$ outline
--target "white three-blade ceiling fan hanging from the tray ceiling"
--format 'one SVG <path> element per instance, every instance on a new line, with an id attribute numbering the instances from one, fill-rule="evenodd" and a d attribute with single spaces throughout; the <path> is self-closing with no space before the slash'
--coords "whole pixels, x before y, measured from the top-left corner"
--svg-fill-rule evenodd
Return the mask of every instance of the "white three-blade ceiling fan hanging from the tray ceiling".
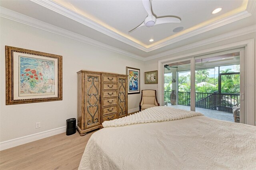
<path id="1" fill-rule="evenodd" d="M 130 30 L 128 34 L 137 28 L 140 28 L 141 26 L 146 26 L 146 27 L 152 27 L 157 24 L 165 24 L 165 23 L 180 23 L 180 19 L 176 17 L 162 17 L 162 18 L 156 18 L 151 11 L 151 0 L 142 0 L 143 6 L 148 12 L 148 16 L 145 18 L 144 22 L 134 28 L 133 30 Z"/>

